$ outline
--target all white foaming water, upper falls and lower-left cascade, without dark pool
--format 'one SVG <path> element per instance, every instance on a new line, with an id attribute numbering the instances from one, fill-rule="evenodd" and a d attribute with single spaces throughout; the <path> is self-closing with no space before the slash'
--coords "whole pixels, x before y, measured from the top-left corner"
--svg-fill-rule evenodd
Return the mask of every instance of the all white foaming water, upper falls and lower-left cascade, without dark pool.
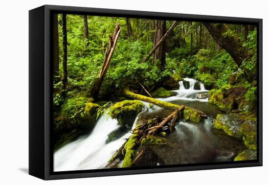
<path id="1" fill-rule="evenodd" d="M 200 83 L 201 90 L 194 90 L 194 84 L 197 81 L 191 78 L 184 78 L 184 80 L 190 82 L 189 89 L 185 89 L 183 82 L 180 81 L 179 90 L 174 91 L 177 95 L 158 99 L 166 102 L 173 100 L 208 101 L 208 99 L 196 98 L 197 93 L 207 92 L 202 83 Z M 158 106 L 150 108 L 149 103 L 143 103 L 145 105 L 143 111 L 148 111 L 149 113 L 162 109 Z M 133 128 L 137 119 L 138 116 L 134 121 Z M 189 127 L 194 133 L 199 133 L 196 127 L 189 125 L 188 123 L 179 123 L 179 125 L 182 124 L 184 124 L 183 126 L 185 127 Z M 105 167 L 116 150 L 125 142 L 125 139 L 131 136 L 131 133 L 127 132 L 121 138 L 106 144 L 108 135 L 119 127 L 120 125 L 118 125 L 118 121 L 112 119 L 108 113 L 102 115 L 96 122 L 93 131 L 87 137 L 73 141 L 54 153 L 54 171 L 98 169 Z"/>

